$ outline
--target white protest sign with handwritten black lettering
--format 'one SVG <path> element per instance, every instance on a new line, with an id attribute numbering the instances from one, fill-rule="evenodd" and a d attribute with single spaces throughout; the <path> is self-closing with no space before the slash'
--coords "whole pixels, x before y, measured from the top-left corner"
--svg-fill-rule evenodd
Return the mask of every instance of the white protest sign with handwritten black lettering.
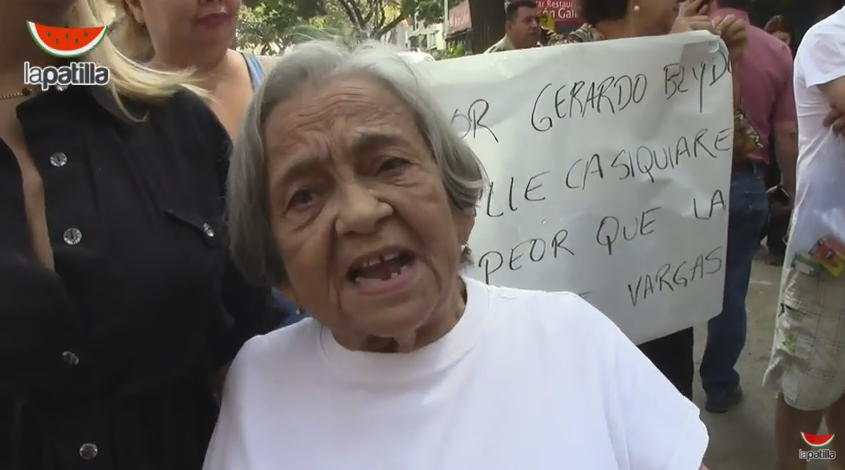
<path id="1" fill-rule="evenodd" d="M 715 36 L 415 67 L 490 178 L 471 277 L 579 293 L 637 343 L 719 313 L 733 113 Z"/>

